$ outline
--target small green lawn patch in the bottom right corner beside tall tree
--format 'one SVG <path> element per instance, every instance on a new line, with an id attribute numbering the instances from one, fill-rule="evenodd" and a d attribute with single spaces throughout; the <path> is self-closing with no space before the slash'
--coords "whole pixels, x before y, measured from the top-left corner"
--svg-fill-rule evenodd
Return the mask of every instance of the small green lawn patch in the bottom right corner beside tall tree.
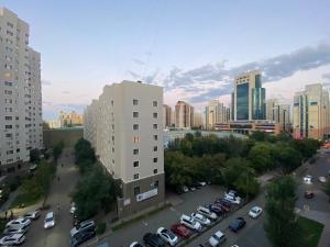
<path id="1" fill-rule="evenodd" d="M 324 225 L 301 216 L 298 224 L 304 233 L 304 247 L 317 247 Z"/>

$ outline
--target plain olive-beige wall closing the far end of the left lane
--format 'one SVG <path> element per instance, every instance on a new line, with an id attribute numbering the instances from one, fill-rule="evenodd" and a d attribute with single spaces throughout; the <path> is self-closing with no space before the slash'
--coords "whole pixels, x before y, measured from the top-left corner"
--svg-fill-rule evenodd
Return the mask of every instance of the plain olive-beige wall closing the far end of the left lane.
<path id="1" fill-rule="evenodd" d="M 64 142 L 65 147 L 74 147 L 77 141 L 82 137 L 82 127 L 44 130 L 44 145 L 46 148 L 53 147 L 61 141 Z"/>

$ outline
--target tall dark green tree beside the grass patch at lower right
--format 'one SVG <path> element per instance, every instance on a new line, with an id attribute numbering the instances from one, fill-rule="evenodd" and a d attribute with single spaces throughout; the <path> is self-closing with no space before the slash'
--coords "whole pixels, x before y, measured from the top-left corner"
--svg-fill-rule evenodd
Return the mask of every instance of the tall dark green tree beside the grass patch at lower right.
<path id="1" fill-rule="evenodd" d="M 264 225 L 274 247 L 298 247 L 301 231 L 295 214 L 296 184 L 292 177 L 284 176 L 267 187 L 266 222 Z"/>

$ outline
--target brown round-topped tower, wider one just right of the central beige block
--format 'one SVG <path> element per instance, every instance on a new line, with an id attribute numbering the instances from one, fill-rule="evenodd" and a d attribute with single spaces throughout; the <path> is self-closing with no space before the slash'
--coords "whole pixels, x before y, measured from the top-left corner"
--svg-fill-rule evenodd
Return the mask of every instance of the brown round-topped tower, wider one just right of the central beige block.
<path id="1" fill-rule="evenodd" d="M 178 101 L 175 105 L 175 126 L 178 128 L 194 126 L 194 108 L 185 101 Z"/>

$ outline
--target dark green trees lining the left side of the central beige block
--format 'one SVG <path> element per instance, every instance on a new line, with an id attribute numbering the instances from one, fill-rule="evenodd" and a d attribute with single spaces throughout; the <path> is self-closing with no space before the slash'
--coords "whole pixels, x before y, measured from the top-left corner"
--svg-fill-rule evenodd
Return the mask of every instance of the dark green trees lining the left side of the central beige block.
<path id="1" fill-rule="evenodd" d="M 80 138 L 76 143 L 75 158 L 81 172 L 73 194 L 78 218 L 92 217 L 100 210 L 109 212 L 119 194 L 116 180 L 98 166 L 95 151 L 88 141 Z"/>

